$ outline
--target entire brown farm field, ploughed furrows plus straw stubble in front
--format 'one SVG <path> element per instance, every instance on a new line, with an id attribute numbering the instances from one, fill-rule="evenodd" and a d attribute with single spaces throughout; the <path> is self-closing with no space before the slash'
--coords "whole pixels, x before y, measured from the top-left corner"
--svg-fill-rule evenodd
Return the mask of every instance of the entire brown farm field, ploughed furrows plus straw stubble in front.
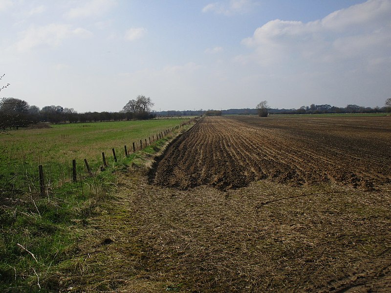
<path id="1" fill-rule="evenodd" d="M 389 292 L 390 145 L 390 117 L 203 118 L 152 168 L 119 176 L 75 271 L 56 280 L 76 292 Z"/>

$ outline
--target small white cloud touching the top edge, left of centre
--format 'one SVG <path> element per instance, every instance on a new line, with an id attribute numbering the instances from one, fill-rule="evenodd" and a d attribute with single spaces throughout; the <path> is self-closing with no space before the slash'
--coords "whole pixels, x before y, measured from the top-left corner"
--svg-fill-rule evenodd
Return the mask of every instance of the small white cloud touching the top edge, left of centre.
<path id="1" fill-rule="evenodd" d="M 83 2 L 84 4 L 69 10 L 65 16 L 69 18 L 99 16 L 117 5 L 116 0 L 89 0 Z"/>

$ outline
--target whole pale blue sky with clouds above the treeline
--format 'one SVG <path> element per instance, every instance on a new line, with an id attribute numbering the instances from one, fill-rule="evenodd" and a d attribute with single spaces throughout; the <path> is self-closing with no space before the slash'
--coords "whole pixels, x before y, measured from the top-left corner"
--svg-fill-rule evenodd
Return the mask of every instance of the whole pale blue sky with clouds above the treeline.
<path id="1" fill-rule="evenodd" d="M 1 97 L 40 108 L 384 106 L 391 0 L 0 0 Z"/>

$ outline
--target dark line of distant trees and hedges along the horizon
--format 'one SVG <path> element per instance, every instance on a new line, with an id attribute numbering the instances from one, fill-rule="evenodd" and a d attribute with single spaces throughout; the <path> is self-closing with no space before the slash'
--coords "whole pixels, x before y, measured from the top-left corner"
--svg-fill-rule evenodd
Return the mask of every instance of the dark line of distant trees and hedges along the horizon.
<path id="1" fill-rule="evenodd" d="M 130 101 L 131 102 L 131 101 Z M 309 105 L 299 109 L 273 109 L 269 108 L 270 114 L 323 114 L 323 113 L 378 113 L 390 112 L 391 107 L 363 107 L 359 105 L 347 105 L 346 107 L 336 107 L 331 105 Z M 53 124 L 62 123 L 84 123 L 84 122 L 104 122 L 123 120 L 153 119 L 155 117 L 177 117 L 177 116 L 220 116 L 220 115 L 257 115 L 258 109 L 228 109 L 228 110 L 186 110 L 186 111 L 136 111 L 127 112 L 86 112 L 77 113 L 73 108 L 63 108 L 62 106 L 45 106 L 42 109 L 37 106 L 30 106 L 27 102 L 6 98 L 0 100 L 0 128 L 26 127 L 41 122 Z"/>

